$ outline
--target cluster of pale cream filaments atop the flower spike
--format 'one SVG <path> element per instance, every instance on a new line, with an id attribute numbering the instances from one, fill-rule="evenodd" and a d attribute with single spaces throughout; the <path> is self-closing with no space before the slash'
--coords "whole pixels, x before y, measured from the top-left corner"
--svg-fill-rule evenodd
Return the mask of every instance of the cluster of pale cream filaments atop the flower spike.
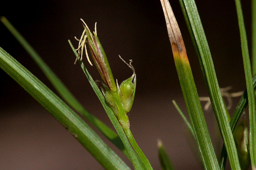
<path id="1" fill-rule="evenodd" d="M 76 61 L 77 61 L 77 59 L 78 59 L 78 57 L 79 57 L 80 55 L 81 55 L 80 60 L 83 59 L 83 50 L 85 49 L 86 58 L 87 58 L 88 62 L 90 63 L 90 65 L 92 65 L 92 62 L 91 62 L 90 59 L 89 59 L 89 55 L 88 55 L 88 52 L 87 52 L 87 49 L 86 49 L 86 44 L 85 44 L 85 43 L 87 42 L 87 40 L 86 40 L 86 39 L 87 39 L 86 29 L 87 29 L 89 32 L 90 32 L 90 30 L 89 30 L 88 26 L 85 24 L 84 20 L 83 20 L 82 18 L 81 18 L 80 20 L 84 23 L 84 31 L 83 31 L 83 33 L 82 33 L 82 36 L 81 36 L 80 40 L 78 40 L 78 39 L 75 37 L 75 39 L 79 41 L 79 43 L 78 43 L 78 48 L 76 49 L 76 51 L 78 51 L 78 56 L 76 57 Z M 97 22 L 95 22 L 94 33 L 97 35 L 96 24 L 97 24 Z M 74 64 L 76 64 L 76 61 L 75 61 Z"/>

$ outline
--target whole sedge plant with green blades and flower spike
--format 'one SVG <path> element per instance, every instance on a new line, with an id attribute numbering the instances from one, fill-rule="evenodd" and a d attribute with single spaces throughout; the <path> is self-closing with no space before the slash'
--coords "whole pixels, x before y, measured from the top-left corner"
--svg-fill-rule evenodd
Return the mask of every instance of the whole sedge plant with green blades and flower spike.
<path id="1" fill-rule="evenodd" d="M 196 89 L 194 77 L 189 63 L 189 56 L 186 53 L 186 47 L 182 39 L 178 23 L 168 0 L 160 0 L 162 4 L 164 17 L 167 26 L 166 36 L 170 39 L 172 47 L 172 56 L 178 73 L 180 87 L 186 104 L 189 120 L 173 100 L 173 104 L 181 115 L 190 130 L 194 140 L 196 141 L 200 154 L 202 166 L 205 169 L 225 169 L 227 158 L 231 169 L 255 169 L 256 164 L 256 102 L 255 88 L 256 76 L 252 76 L 256 70 L 256 40 L 252 39 L 252 65 L 248 53 L 248 45 L 246 39 L 245 26 L 242 15 L 242 7 L 240 0 L 235 0 L 238 26 L 240 30 L 242 59 L 244 63 L 244 72 L 246 78 L 246 89 L 242 94 L 237 107 L 229 119 L 229 113 L 223 100 L 216 77 L 214 63 L 208 42 L 204 34 L 204 29 L 200 21 L 196 3 L 194 0 L 179 0 L 188 31 L 192 38 L 194 48 L 198 56 L 198 61 L 204 75 L 204 81 L 208 89 L 209 101 L 211 102 L 219 131 L 223 139 L 221 155 L 217 155 L 212 139 L 209 134 L 209 129 L 204 117 L 204 111 L 200 103 L 200 97 Z M 256 1 L 252 0 L 252 35 L 256 33 Z M 82 20 L 82 19 L 81 19 Z M 66 86 L 46 65 L 42 58 L 36 53 L 32 46 L 25 40 L 24 37 L 8 22 L 4 17 L 1 17 L 1 22 L 10 30 L 14 37 L 31 55 L 36 64 L 44 72 L 52 85 L 56 88 L 60 99 L 46 85 L 38 80 L 30 71 L 10 56 L 4 49 L 0 47 L 0 67 L 10 77 L 12 77 L 21 87 L 23 87 L 32 97 L 34 97 L 45 109 L 49 111 L 70 133 L 96 158 L 96 160 L 106 169 L 130 169 L 126 163 L 85 123 L 85 121 L 77 114 L 80 113 L 93 127 L 106 136 L 122 153 L 132 162 L 133 168 L 136 170 L 152 169 L 148 158 L 138 146 L 130 126 L 128 114 L 132 109 L 136 92 L 136 73 L 132 66 L 132 60 L 124 61 L 124 66 L 127 65 L 132 70 L 132 75 L 122 81 L 120 85 L 114 79 L 110 64 L 104 52 L 104 49 L 97 36 L 96 24 L 94 32 L 91 32 L 84 20 L 82 35 L 78 40 L 77 49 L 74 48 L 71 41 L 68 40 L 72 51 L 74 52 L 74 63 L 79 63 L 82 71 L 87 77 L 92 89 L 96 93 L 100 103 L 104 107 L 115 131 L 102 123 L 100 119 L 94 117 L 86 111 L 79 101 L 70 93 Z M 255 36 L 254 36 L 255 38 Z M 87 48 L 88 47 L 88 48 Z M 90 56 L 88 54 L 90 51 Z M 90 65 L 96 66 L 101 81 L 97 85 L 92 78 L 82 58 L 85 55 Z M 93 59 L 93 63 L 90 58 Z M 249 128 L 246 124 L 245 116 L 242 116 L 248 105 Z M 77 112 L 77 113 L 76 113 Z M 242 121 L 239 119 L 242 117 Z M 162 169 L 172 170 L 175 167 L 164 149 L 161 140 L 158 140 L 158 156 Z M 172 156 L 170 156 L 172 157 Z"/>

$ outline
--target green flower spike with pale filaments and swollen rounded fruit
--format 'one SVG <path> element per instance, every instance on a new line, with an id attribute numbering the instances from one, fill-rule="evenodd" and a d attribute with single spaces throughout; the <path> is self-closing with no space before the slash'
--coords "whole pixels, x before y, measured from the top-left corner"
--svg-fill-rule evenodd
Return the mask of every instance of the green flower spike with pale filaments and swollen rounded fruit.
<path id="1" fill-rule="evenodd" d="M 79 44 L 78 49 L 76 50 L 78 50 L 78 54 L 81 55 L 80 59 L 82 60 L 83 49 L 85 49 L 87 60 L 90 65 L 92 65 L 86 49 L 86 43 L 88 44 L 94 64 L 96 65 L 100 76 L 104 81 L 104 83 L 102 82 L 104 89 L 101 89 L 106 103 L 108 103 L 112 109 L 122 128 L 127 130 L 130 127 L 130 123 L 126 113 L 128 113 L 132 108 L 136 88 L 136 74 L 134 67 L 131 65 L 132 61 L 130 60 L 130 64 L 128 64 L 119 56 L 122 61 L 124 61 L 124 63 L 126 63 L 133 71 L 132 76 L 123 81 L 119 86 L 117 80 L 116 83 L 114 81 L 112 71 L 108 64 L 108 59 L 97 37 L 96 23 L 95 31 L 92 34 L 85 22 L 83 20 L 82 22 L 84 24 L 84 31 L 80 40 L 78 40 Z M 76 61 L 77 59 L 78 57 L 76 58 Z"/>

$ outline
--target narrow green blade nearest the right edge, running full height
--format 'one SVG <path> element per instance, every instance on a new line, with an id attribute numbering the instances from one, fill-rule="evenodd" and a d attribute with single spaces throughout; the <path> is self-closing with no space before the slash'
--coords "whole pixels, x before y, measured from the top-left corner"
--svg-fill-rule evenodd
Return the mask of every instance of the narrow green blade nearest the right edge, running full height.
<path id="1" fill-rule="evenodd" d="M 248 105 L 249 105 L 249 146 L 250 146 L 250 158 L 252 162 L 252 168 L 255 168 L 256 164 L 256 103 L 254 97 L 254 89 L 252 84 L 252 71 L 250 65 L 250 57 L 247 45 L 246 30 L 244 26 L 244 18 L 242 14 L 242 7 L 240 0 L 235 0 L 236 12 L 238 16 L 238 25 L 240 30 L 242 56 L 244 61 L 244 73 L 246 79 L 246 87 L 248 93 Z"/>

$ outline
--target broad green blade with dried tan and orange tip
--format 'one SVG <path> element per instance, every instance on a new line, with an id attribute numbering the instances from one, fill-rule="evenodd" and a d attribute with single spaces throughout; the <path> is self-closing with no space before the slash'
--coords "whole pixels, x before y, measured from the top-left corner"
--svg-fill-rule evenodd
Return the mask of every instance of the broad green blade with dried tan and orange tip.
<path id="1" fill-rule="evenodd" d="M 161 0 L 180 86 L 205 169 L 219 169 L 178 24 L 168 0 Z"/>

